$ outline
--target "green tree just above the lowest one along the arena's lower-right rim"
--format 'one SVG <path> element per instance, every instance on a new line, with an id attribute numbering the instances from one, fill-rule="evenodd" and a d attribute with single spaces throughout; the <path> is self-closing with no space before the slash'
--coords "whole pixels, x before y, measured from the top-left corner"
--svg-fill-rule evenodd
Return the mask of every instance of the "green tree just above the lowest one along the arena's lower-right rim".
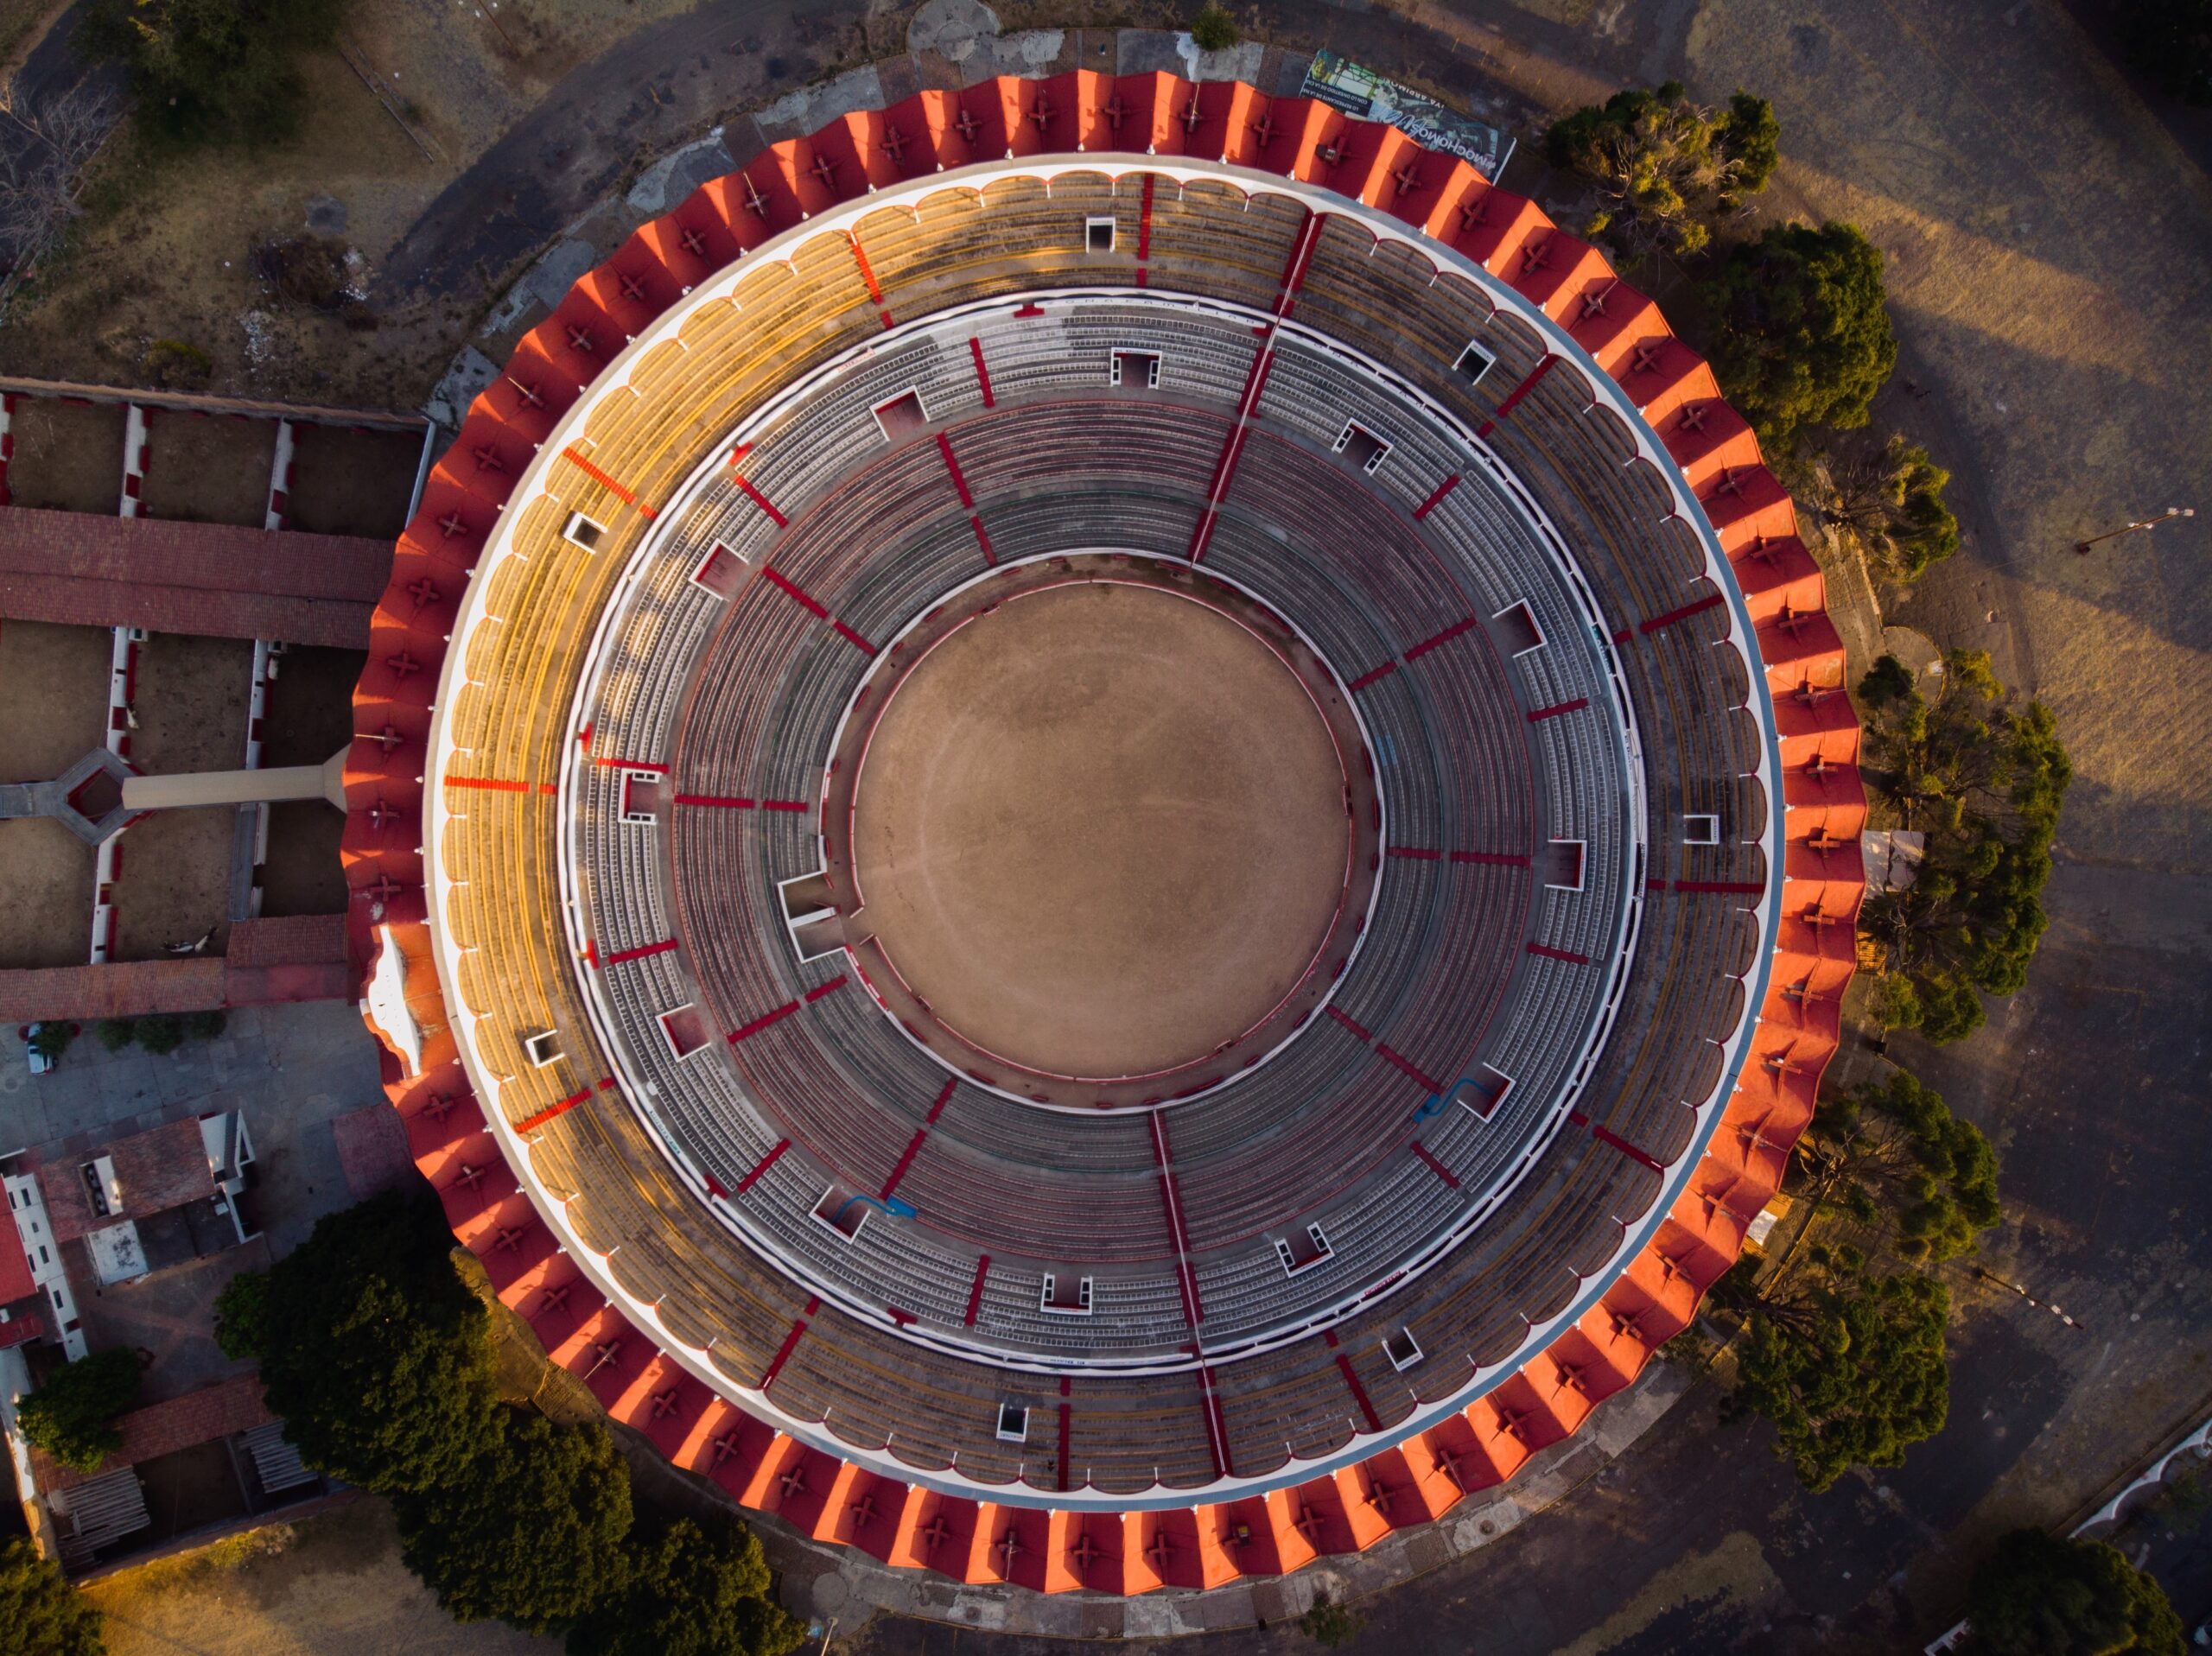
<path id="1" fill-rule="evenodd" d="M 1843 1212 L 1913 1265 L 1971 1254 L 2002 1218 L 1997 1152 L 1905 1070 L 1820 1099 L 1807 1143 Z"/>

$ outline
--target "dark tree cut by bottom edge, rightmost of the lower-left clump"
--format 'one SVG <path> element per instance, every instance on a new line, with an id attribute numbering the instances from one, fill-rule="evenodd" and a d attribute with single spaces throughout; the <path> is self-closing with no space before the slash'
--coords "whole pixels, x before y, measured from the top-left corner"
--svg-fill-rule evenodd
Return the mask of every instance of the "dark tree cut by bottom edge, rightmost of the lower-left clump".
<path id="1" fill-rule="evenodd" d="M 681 1519 L 630 1541 L 619 1592 L 568 1629 L 568 1656 L 783 1656 L 805 1638 L 768 1596 L 768 1561 L 741 1523 Z"/>

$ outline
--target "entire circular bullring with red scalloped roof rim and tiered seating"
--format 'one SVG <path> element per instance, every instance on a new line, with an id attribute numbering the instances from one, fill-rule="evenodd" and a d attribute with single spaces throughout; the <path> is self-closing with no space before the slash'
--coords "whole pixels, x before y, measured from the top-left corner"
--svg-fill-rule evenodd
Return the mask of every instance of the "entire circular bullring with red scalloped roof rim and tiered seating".
<path id="1" fill-rule="evenodd" d="M 1736 1258 L 1858 727 L 1657 307 L 1389 126 L 991 80 L 644 226 L 431 473 L 365 1015 L 456 1236 L 672 1461 L 962 1581 L 1296 1570 Z"/>

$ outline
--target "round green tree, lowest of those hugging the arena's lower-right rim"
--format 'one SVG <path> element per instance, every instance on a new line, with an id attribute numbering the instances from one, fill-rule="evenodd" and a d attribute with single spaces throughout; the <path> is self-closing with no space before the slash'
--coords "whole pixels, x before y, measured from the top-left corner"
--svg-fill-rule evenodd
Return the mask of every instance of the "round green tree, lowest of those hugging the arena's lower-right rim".
<path id="1" fill-rule="evenodd" d="M 1942 1282 L 1871 1276 L 1858 1249 L 1816 1243 L 1790 1289 L 1754 1304 L 1721 1417 L 1772 1422 L 1814 1495 L 1854 1466 L 1900 1466 L 1951 1406 L 1949 1311 Z"/>

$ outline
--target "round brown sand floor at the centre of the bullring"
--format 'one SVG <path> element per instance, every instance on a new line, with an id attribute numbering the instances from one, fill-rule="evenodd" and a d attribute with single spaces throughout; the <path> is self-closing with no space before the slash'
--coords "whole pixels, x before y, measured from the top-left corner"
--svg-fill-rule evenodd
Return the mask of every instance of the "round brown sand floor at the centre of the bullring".
<path id="1" fill-rule="evenodd" d="M 1241 626 L 1060 586 L 900 681 L 854 860 L 876 940 L 949 1028 L 1053 1075 L 1148 1075 L 1305 973 L 1343 893 L 1343 796 L 1305 688 Z"/>

